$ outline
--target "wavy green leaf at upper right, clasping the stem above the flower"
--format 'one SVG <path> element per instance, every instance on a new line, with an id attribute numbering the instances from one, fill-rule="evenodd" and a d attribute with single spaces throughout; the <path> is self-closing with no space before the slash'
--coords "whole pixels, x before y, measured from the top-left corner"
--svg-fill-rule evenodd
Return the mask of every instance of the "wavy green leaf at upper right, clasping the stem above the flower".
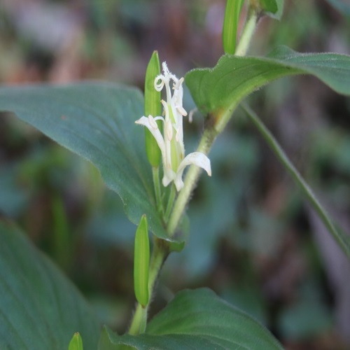
<path id="1" fill-rule="evenodd" d="M 219 116 L 251 92 L 272 80 L 311 74 L 340 94 L 350 94 L 350 56 L 335 53 L 301 54 L 281 46 L 268 57 L 224 55 L 214 69 L 193 69 L 186 84 L 198 109 Z"/>

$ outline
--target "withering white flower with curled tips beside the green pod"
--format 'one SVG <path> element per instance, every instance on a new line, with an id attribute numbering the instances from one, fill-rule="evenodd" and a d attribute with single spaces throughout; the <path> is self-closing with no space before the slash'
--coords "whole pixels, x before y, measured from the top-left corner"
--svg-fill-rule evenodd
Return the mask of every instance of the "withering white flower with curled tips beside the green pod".
<path id="1" fill-rule="evenodd" d="M 167 92 L 167 102 L 161 101 L 163 105 L 162 116 L 141 117 L 135 123 L 144 125 L 150 130 L 157 141 L 162 152 L 162 162 L 164 175 L 162 179 L 163 186 L 168 186 L 174 181 L 176 190 L 183 188 L 182 175 L 187 165 L 196 165 L 203 168 L 209 176 L 211 176 L 210 160 L 207 155 L 200 152 L 193 152 L 184 157 L 185 148 L 183 146 L 183 116 L 187 116 L 187 112 L 183 109 L 183 78 L 178 79 L 174 74 L 169 72 L 167 64 L 162 64 L 163 74 L 155 78 L 155 90 L 160 91 L 163 87 Z M 170 90 L 170 80 L 173 81 Z M 156 120 L 162 120 L 164 123 L 163 134 L 160 132 Z"/>

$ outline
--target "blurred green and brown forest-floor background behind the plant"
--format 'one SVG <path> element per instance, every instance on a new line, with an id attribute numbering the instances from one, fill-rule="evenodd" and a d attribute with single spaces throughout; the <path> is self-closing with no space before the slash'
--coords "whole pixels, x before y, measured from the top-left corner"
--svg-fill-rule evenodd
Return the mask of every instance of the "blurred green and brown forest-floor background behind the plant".
<path id="1" fill-rule="evenodd" d="M 1 0 L 2 84 L 82 79 L 144 84 L 153 50 L 177 76 L 223 54 L 224 0 Z M 244 8 L 244 11 L 246 8 Z M 243 23 L 242 23 L 243 24 Z M 324 0 L 286 0 L 251 53 L 276 45 L 350 54 L 349 19 Z M 350 100 L 309 77 L 249 97 L 325 207 L 350 232 Z M 185 107 L 193 109 L 188 90 Z M 135 116 L 135 120 L 139 116 Z M 123 332 L 134 305 L 135 226 L 92 165 L 10 116 L 0 119 L 0 214 L 59 264 L 102 322 Z M 187 152 L 202 130 L 186 123 Z M 350 344 L 349 262 L 258 133 L 237 111 L 188 209 L 190 240 L 169 258 L 151 312 L 209 286 L 286 349 Z"/>

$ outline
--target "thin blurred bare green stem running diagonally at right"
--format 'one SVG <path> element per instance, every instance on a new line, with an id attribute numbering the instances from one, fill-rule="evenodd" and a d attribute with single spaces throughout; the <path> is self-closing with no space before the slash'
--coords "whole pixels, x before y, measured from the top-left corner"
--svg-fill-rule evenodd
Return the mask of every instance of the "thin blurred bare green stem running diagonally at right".
<path id="1" fill-rule="evenodd" d="M 245 104 L 242 105 L 242 109 L 246 113 L 246 116 L 253 122 L 255 127 L 259 130 L 260 134 L 262 134 L 262 137 L 265 139 L 269 147 L 272 149 L 276 157 L 279 159 L 279 161 L 282 163 L 282 165 L 286 168 L 287 172 L 293 177 L 294 181 L 297 183 L 297 185 L 300 186 L 302 191 L 304 192 L 304 195 L 306 195 L 307 199 L 311 202 L 312 206 L 316 210 L 318 216 L 321 218 L 323 223 L 325 224 L 325 227 L 328 228 L 330 233 L 333 235 L 339 246 L 341 246 L 346 255 L 350 256 L 349 252 L 349 243 L 346 243 L 344 240 L 344 237 L 340 235 L 340 233 L 335 229 L 335 226 L 332 224 L 332 221 L 330 219 L 330 216 L 328 213 L 323 209 L 321 204 L 316 199 L 314 193 L 312 192 L 309 185 L 304 181 L 300 173 L 297 171 L 297 169 L 294 167 L 292 162 L 288 159 L 286 153 L 284 153 L 281 146 L 279 146 L 279 143 L 276 141 L 274 136 L 269 132 L 267 127 L 265 127 L 264 123 L 260 120 L 260 118 L 254 113 L 251 108 L 246 106 Z"/>

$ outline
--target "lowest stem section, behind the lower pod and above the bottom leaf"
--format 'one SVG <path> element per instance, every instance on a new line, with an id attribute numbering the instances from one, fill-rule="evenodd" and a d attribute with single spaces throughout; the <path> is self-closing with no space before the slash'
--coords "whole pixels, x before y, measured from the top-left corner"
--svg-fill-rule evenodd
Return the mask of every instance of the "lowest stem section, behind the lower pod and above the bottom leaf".
<path id="1" fill-rule="evenodd" d="M 152 295 L 155 288 L 155 281 L 157 281 L 160 269 L 162 269 L 162 265 L 167 259 L 168 254 L 169 248 L 167 246 L 167 242 L 162 241 L 162 239 L 156 238 L 154 241 L 151 264 L 148 272 L 148 291 L 150 295 L 149 300 L 152 300 Z M 139 303 L 137 304 L 134 316 L 132 318 L 132 323 L 130 325 L 129 334 L 138 335 L 145 332 L 149 304 L 150 302 L 148 302 L 148 304 L 145 307 L 143 307 Z"/>

